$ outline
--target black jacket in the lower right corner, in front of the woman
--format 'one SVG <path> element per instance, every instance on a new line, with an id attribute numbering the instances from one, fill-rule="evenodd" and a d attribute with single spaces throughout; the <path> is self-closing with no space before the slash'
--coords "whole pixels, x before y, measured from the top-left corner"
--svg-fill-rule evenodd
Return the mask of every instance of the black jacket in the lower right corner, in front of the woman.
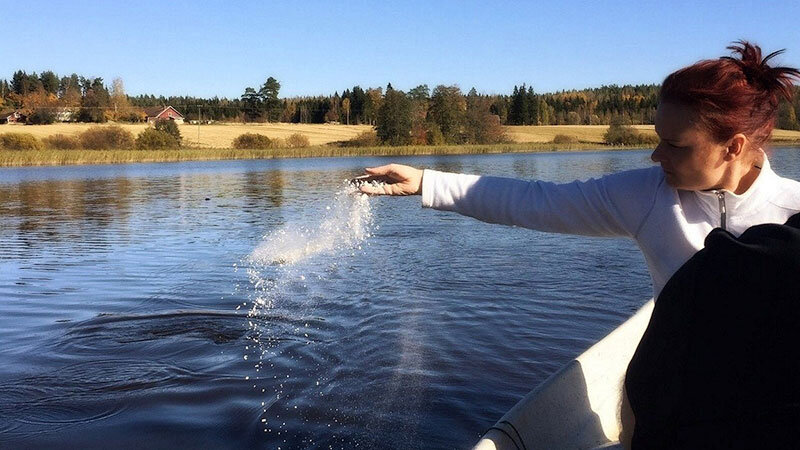
<path id="1" fill-rule="evenodd" d="M 633 448 L 800 448 L 800 214 L 722 229 L 659 295 L 625 380 Z"/>

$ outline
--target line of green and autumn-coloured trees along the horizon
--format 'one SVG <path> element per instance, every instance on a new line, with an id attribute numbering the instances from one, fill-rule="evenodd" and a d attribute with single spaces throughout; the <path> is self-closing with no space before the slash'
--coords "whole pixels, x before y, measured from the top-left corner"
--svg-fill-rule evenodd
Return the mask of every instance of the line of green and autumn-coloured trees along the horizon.
<path id="1" fill-rule="evenodd" d="M 191 96 L 129 96 L 123 81 L 111 84 L 78 74 L 59 77 L 18 70 L 0 79 L 0 112 L 20 111 L 29 123 L 52 123 L 60 111 L 81 122 L 127 121 L 145 118 L 144 108 L 172 105 L 187 120 L 289 123 L 341 123 L 376 126 L 382 140 L 472 142 L 492 135 L 502 125 L 608 125 L 612 122 L 652 124 L 656 84 L 602 86 L 592 89 L 537 93 L 527 84 L 510 94 L 464 94 L 457 86 L 419 85 L 407 92 L 383 87 L 354 86 L 333 95 L 280 98 L 273 77 L 259 87 L 246 87 L 239 98 Z M 800 87 L 794 103 L 779 106 L 778 127 L 800 130 Z M 478 124 L 480 123 L 480 127 Z M 477 128 L 476 128 L 477 127 Z M 398 130 L 398 131 L 392 131 Z M 408 135 L 406 136 L 406 131 Z M 440 136 L 441 135 L 441 136 Z M 399 136 L 399 135 L 398 135 Z"/>

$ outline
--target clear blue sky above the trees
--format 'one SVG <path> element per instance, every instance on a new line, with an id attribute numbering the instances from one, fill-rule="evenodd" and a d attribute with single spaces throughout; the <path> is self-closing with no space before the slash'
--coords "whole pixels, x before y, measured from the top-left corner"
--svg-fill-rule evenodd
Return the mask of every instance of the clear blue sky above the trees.
<path id="1" fill-rule="evenodd" d="M 660 83 L 745 38 L 800 66 L 800 1 L 0 0 L 0 78 L 121 77 L 129 94 L 281 96 L 426 83 L 510 93 Z M 10 37 L 13 39 L 9 39 Z"/>

